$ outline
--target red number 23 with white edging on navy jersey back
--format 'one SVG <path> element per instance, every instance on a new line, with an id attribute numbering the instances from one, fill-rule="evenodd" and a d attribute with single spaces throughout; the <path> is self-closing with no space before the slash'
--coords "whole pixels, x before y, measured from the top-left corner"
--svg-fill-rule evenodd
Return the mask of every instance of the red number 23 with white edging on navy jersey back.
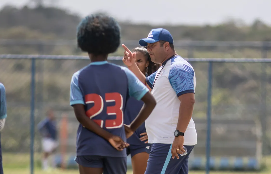
<path id="1" fill-rule="evenodd" d="M 86 115 L 95 123 L 103 127 L 104 121 L 94 119 L 104 109 L 104 100 L 98 94 L 87 94 L 85 96 L 86 104 L 94 103 L 94 106 L 86 111 Z M 105 127 L 107 129 L 120 128 L 123 125 L 123 98 L 120 93 L 105 93 L 105 102 L 115 102 L 114 106 L 107 106 L 108 115 L 116 115 L 116 119 L 106 119 Z"/>

